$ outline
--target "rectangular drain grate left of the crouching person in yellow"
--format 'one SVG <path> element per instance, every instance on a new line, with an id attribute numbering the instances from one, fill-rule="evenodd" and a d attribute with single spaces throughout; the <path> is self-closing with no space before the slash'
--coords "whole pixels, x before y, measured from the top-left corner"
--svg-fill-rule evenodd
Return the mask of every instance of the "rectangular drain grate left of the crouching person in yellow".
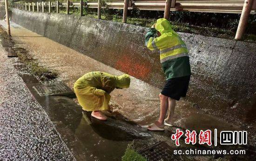
<path id="1" fill-rule="evenodd" d="M 62 82 L 52 84 L 37 84 L 33 86 L 40 96 L 58 95 L 63 93 L 73 93 L 73 91 Z"/>

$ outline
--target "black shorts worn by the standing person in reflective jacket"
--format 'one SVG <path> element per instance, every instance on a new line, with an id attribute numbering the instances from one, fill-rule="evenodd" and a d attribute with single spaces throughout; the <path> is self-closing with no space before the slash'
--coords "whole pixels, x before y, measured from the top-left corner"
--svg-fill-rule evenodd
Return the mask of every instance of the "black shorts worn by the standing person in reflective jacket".
<path id="1" fill-rule="evenodd" d="M 161 94 L 172 99 L 180 100 L 181 97 L 186 97 L 189 89 L 189 80 L 190 75 L 168 79 Z"/>

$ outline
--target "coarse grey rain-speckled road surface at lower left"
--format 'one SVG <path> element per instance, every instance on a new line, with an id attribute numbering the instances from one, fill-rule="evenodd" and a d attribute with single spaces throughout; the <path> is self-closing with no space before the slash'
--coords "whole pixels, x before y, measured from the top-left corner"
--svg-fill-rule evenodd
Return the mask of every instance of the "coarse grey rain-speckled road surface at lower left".
<path id="1" fill-rule="evenodd" d="M 0 45 L 0 161 L 75 160 Z"/>

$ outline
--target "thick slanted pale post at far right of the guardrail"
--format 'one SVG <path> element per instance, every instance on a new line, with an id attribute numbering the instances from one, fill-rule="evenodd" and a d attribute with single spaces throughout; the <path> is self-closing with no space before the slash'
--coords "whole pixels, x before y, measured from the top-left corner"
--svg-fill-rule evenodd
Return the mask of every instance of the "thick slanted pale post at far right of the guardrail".
<path id="1" fill-rule="evenodd" d="M 250 16 L 252 4 L 253 0 L 244 0 L 242 14 L 236 30 L 236 40 L 240 40 L 243 37 Z"/>

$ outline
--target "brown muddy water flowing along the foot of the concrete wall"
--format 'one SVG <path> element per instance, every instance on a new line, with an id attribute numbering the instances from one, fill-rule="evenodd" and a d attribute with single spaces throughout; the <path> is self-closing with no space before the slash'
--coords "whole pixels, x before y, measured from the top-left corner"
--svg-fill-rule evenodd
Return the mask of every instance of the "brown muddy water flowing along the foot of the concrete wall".
<path id="1" fill-rule="evenodd" d="M 20 47 L 27 49 L 29 54 L 37 58 L 41 65 L 58 71 L 60 74 L 59 79 L 64 81 L 70 88 L 73 88 L 74 81 L 90 71 L 103 71 L 116 75 L 122 74 L 122 72 L 115 68 L 111 68 L 17 25 L 13 28 L 12 35 L 14 41 L 20 43 Z M 111 93 L 110 107 L 113 111 L 112 115 L 141 125 L 150 124 L 159 116 L 160 101 L 158 95 L 160 92 L 160 89 L 132 78 L 130 88 L 116 89 Z M 179 115 L 179 111 L 184 106 L 189 107 L 187 113 L 183 112 Z M 203 108 L 201 107 L 201 109 Z M 201 111 L 199 108 L 195 108 L 192 103 L 179 101 L 175 110 L 176 120 L 179 117 L 188 117 L 189 111 L 193 110 Z"/>

